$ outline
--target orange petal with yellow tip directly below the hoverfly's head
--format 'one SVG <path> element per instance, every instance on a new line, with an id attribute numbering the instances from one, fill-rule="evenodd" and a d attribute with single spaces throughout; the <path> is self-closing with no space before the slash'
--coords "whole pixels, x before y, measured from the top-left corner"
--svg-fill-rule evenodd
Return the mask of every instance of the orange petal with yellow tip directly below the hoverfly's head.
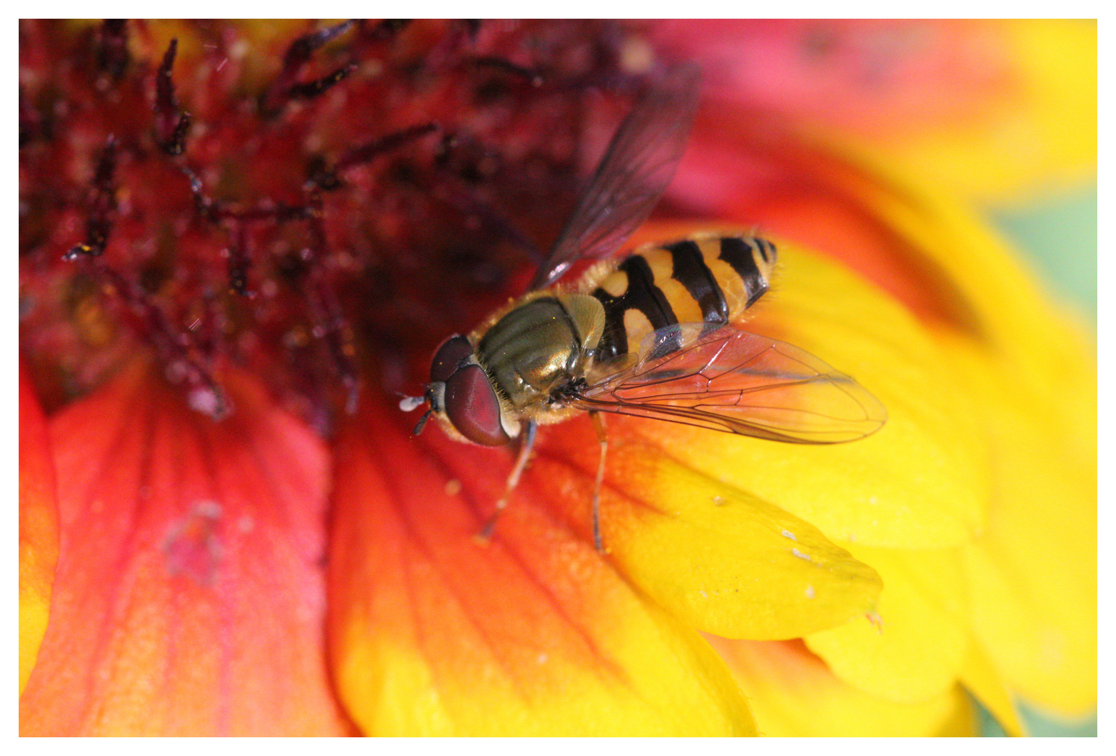
<path id="1" fill-rule="evenodd" d="M 480 543 L 508 452 L 437 428 L 410 438 L 397 409 L 365 401 L 337 446 L 328 622 L 338 691 L 365 733 L 754 731 L 709 644 L 556 503 L 569 475 L 530 471 Z"/>

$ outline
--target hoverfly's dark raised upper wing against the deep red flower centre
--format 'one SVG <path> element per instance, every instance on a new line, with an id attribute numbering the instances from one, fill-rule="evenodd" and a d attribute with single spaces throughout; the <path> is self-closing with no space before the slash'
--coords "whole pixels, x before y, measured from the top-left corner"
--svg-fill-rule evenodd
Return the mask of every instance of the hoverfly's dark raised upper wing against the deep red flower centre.
<path id="1" fill-rule="evenodd" d="M 616 251 L 647 219 L 685 151 L 699 79 L 696 67 L 676 68 L 636 101 L 539 265 L 531 289 L 550 285 L 580 259 Z"/>

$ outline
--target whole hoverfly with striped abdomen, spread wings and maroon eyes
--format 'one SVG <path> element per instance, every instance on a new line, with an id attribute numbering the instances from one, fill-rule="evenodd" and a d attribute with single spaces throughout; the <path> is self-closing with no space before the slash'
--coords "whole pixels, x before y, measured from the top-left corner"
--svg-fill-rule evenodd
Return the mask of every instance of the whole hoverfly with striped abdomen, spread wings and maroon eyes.
<path id="1" fill-rule="evenodd" d="M 600 413 L 682 423 L 795 444 L 863 438 L 883 405 L 848 376 L 781 341 L 732 326 L 769 285 L 776 248 L 754 236 L 700 235 L 643 246 L 555 285 L 583 260 L 615 252 L 646 220 L 682 157 L 698 105 L 694 68 L 648 88 L 613 136 L 527 294 L 468 336 L 442 342 L 415 434 L 434 415 L 459 440 L 519 454 L 481 535 L 507 505 L 539 425 L 588 411 L 600 442 L 593 536 L 600 536 L 607 439 Z"/>

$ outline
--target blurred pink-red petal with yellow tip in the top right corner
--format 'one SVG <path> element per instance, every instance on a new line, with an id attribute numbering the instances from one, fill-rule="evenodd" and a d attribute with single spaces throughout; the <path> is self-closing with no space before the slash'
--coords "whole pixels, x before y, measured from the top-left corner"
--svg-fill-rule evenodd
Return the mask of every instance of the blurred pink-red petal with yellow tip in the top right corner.
<path id="1" fill-rule="evenodd" d="M 718 116 L 698 149 L 733 129 L 753 145 L 793 134 L 992 203 L 1095 175 L 1093 20 L 685 20 L 651 35 L 705 70 Z"/>

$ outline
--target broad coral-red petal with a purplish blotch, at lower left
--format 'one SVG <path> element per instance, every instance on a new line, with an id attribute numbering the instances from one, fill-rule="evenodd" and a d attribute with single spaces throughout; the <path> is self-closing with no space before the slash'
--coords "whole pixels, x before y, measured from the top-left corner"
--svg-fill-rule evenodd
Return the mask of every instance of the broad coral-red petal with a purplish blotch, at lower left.
<path id="1" fill-rule="evenodd" d="M 230 372 L 213 421 L 135 365 L 51 423 L 61 547 L 23 735 L 343 731 L 320 442 Z"/>

